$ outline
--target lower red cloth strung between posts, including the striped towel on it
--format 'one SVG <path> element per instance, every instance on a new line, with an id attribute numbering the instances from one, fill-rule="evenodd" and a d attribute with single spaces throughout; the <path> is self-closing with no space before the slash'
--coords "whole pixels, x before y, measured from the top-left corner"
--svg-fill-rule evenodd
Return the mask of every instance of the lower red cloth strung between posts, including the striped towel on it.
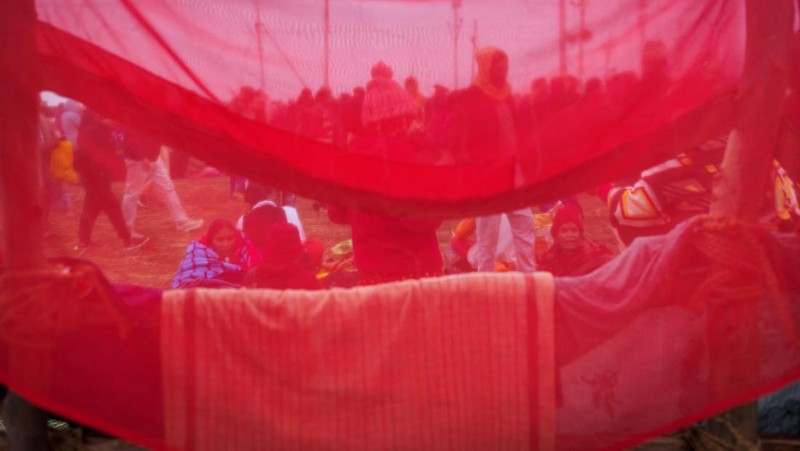
<path id="1" fill-rule="evenodd" d="M 101 284 L 4 308 L 57 315 L 2 323 L 0 375 L 157 449 L 621 448 L 800 376 L 798 256 L 796 236 L 705 220 L 555 284 L 477 273 L 163 299 Z"/>

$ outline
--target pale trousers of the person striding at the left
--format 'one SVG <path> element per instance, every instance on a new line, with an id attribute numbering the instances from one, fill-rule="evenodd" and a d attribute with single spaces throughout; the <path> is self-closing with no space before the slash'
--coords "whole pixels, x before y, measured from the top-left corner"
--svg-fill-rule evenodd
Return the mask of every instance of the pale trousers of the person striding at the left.
<path id="1" fill-rule="evenodd" d="M 167 206 L 170 219 L 176 224 L 188 221 L 189 216 L 181 205 L 178 198 L 178 193 L 175 192 L 175 185 L 172 179 L 169 178 L 167 168 L 161 158 L 156 161 L 148 160 L 125 160 L 127 173 L 125 175 L 125 194 L 122 195 L 122 216 L 125 218 L 125 224 L 128 229 L 133 232 L 133 226 L 136 222 L 136 211 L 139 202 L 139 196 L 142 195 L 147 180 L 152 180 L 153 188 L 158 193 L 158 196 Z"/>

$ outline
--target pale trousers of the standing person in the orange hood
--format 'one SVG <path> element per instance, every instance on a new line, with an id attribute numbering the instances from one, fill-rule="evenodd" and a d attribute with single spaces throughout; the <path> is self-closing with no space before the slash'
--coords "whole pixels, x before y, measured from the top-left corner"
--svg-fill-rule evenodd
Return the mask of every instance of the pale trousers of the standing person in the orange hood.
<path id="1" fill-rule="evenodd" d="M 501 217 L 506 216 L 511 227 L 514 258 L 517 270 L 533 272 L 533 212 L 530 208 L 475 218 L 475 267 L 478 271 L 495 270 Z"/>

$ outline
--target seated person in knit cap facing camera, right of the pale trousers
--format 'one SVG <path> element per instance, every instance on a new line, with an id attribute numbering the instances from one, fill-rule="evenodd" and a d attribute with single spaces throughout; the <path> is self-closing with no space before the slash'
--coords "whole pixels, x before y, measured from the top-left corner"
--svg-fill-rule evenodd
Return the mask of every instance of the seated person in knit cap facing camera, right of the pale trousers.
<path id="1" fill-rule="evenodd" d="M 583 236 L 583 218 L 573 207 L 556 211 L 551 233 L 555 243 L 541 256 L 540 271 L 560 277 L 582 276 L 614 258 L 606 246 Z"/>

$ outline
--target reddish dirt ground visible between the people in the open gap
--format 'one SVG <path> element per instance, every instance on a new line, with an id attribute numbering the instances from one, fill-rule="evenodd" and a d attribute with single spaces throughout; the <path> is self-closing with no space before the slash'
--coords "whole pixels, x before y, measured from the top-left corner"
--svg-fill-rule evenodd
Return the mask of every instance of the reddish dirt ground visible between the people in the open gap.
<path id="1" fill-rule="evenodd" d="M 176 180 L 175 185 L 189 216 L 202 218 L 206 224 L 219 217 L 236 221 L 244 210 L 241 196 L 231 197 L 228 194 L 227 177 Z M 114 189 L 121 197 L 122 183 L 116 183 Z M 140 250 L 129 252 L 123 249 L 122 241 L 117 238 L 108 219 L 101 215 L 94 228 L 92 246 L 75 251 L 73 246 L 77 243 L 83 190 L 72 186 L 69 187 L 69 193 L 74 201 L 72 207 L 67 211 L 50 213 L 49 233 L 45 238 L 47 255 L 90 259 L 112 282 L 168 288 L 186 246 L 205 231 L 203 227 L 193 232 L 178 232 L 166 208 L 151 195 L 149 207 L 139 208 L 137 231 L 151 237 L 151 241 Z M 616 249 L 603 203 L 587 195 L 581 195 L 579 200 L 584 207 L 587 236 Z M 326 248 L 350 237 L 348 227 L 332 224 L 324 211 L 318 212 L 312 208 L 312 201 L 299 199 L 297 207 L 306 233 L 320 237 Z M 443 246 L 449 241 L 456 223 L 456 220 L 445 221 L 439 228 L 439 241 Z"/>

